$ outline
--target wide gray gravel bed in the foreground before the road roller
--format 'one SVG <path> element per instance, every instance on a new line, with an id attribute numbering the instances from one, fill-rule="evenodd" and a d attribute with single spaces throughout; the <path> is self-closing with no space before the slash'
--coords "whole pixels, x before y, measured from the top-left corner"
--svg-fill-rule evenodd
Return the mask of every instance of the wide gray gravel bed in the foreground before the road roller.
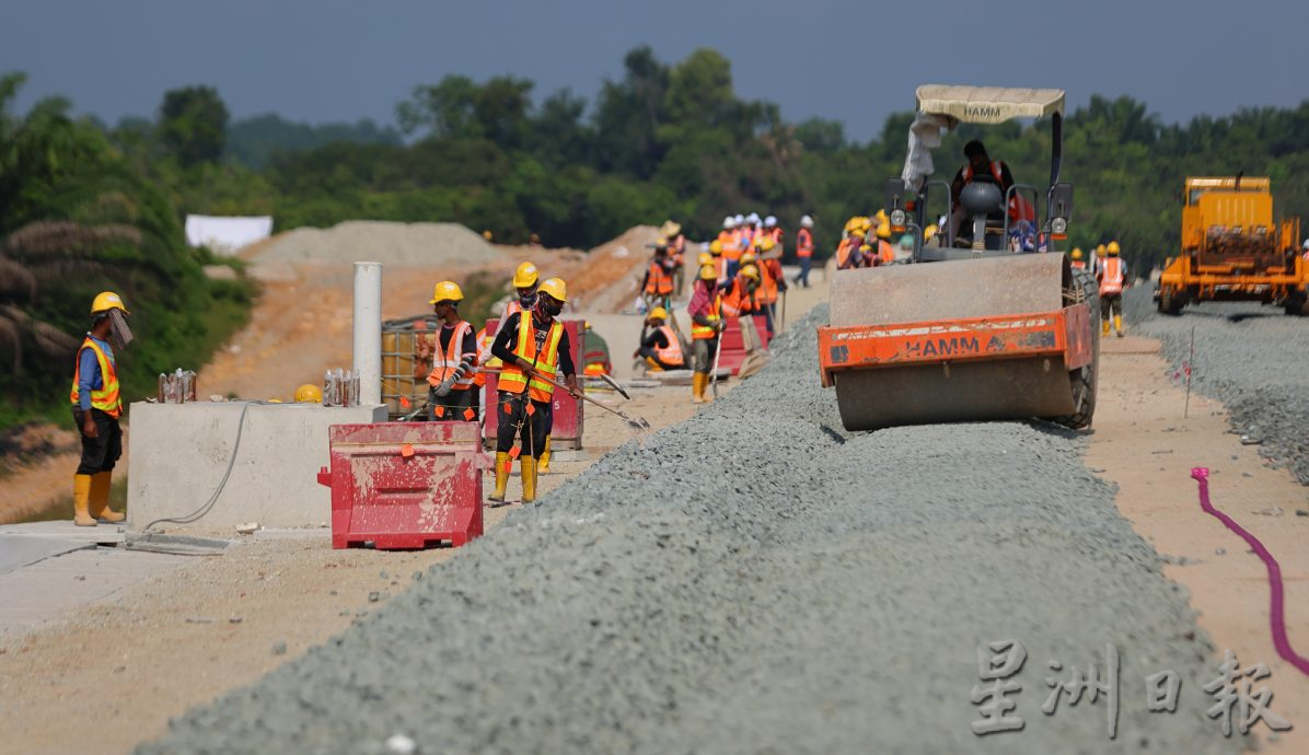
<path id="1" fill-rule="evenodd" d="M 325 646 L 141 754 L 1234 752 L 1185 590 L 1081 462 L 1020 423 L 850 434 L 813 328 L 691 420 L 606 455 Z M 1018 640 L 977 737 L 979 646 Z M 1121 653 L 1106 697 L 1050 688 Z M 1063 669 L 1052 673 L 1051 659 Z M 1145 676 L 1182 679 L 1149 713 Z"/>

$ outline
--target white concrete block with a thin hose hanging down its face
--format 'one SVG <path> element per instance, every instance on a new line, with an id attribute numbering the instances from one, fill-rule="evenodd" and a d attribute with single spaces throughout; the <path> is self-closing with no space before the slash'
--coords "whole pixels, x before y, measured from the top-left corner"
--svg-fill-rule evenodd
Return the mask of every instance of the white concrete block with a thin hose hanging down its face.
<path id="1" fill-rule="evenodd" d="M 245 411 L 245 421 L 241 415 Z M 306 527 L 331 521 L 331 491 L 318 484 L 329 466 L 327 428 L 386 421 L 386 406 L 323 407 L 253 402 L 131 406 L 128 527 L 200 509 L 232 474 L 195 527 Z"/>

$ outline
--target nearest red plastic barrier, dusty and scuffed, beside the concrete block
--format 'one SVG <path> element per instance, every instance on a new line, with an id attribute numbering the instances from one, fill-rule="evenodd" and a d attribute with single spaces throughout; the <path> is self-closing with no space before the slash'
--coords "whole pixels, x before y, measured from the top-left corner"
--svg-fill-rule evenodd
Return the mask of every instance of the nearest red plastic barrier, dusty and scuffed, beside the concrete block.
<path id="1" fill-rule="evenodd" d="M 331 547 L 380 550 L 462 546 L 482 535 L 482 453 L 478 424 L 378 423 L 332 425 Z"/>

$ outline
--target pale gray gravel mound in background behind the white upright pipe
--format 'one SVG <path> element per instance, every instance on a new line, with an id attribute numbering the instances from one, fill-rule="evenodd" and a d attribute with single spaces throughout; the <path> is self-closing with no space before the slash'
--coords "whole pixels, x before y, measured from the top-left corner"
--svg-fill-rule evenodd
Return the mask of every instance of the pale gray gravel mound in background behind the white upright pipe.
<path id="1" fill-rule="evenodd" d="M 351 220 L 326 230 L 297 228 L 268 245 L 258 262 L 433 266 L 495 262 L 501 256 L 484 238 L 454 222 Z"/>

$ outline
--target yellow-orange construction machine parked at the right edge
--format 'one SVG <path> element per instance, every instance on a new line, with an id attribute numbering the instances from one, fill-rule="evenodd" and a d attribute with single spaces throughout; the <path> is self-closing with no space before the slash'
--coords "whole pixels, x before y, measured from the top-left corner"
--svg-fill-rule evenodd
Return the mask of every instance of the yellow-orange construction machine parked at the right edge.
<path id="1" fill-rule="evenodd" d="M 1300 220 L 1274 221 L 1267 178 L 1187 178 L 1183 203 L 1182 253 L 1158 279 L 1158 311 L 1181 314 L 1199 301 L 1261 301 L 1309 315 Z"/>

